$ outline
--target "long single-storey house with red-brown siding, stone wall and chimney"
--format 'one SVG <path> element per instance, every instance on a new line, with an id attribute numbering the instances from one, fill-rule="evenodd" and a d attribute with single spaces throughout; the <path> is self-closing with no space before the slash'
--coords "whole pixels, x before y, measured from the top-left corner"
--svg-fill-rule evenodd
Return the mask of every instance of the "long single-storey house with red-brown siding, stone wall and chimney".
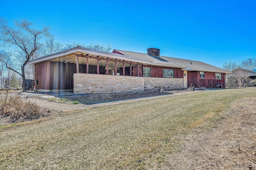
<path id="1" fill-rule="evenodd" d="M 112 53 L 74 47 L 34 59 L 35 88 L 46 92 L 110 93 L 159 87 L 188 88 L 190 84 L 225 87 L 222 68 L 200 61 L 114 49 Z"/>

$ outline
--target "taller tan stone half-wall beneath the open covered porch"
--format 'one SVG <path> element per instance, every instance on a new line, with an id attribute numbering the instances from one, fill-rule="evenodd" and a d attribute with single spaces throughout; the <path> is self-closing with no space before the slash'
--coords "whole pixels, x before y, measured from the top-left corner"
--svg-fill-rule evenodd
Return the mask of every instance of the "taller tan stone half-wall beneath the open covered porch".
<path id="1" fill-rule="evenodd" d="M 74 93 L 114 93 L 144 90 L 144 77 L 74 74 Z"/>

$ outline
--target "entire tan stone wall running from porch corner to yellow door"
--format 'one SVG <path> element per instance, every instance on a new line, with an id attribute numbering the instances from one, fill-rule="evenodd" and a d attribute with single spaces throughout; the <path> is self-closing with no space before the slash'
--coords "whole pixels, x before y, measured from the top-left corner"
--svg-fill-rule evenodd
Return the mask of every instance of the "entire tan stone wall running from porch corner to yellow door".
<path id="1" fill-rule="evenodd" d="M 154 88 L 183 88 L 183 78 L 114 76 L 105 74 L 74 74 L 74 93 L 114 93 L 151 90 Z"/>

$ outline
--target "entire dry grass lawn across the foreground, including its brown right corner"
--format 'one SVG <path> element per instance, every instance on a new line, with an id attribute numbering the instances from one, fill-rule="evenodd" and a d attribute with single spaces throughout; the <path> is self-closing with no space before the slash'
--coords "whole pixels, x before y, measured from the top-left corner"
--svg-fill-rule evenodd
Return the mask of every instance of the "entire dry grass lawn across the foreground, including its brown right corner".
<path id="1" fill-rule="evenodd" d="M 256 88 L 204 91 L 0 129 L 0 169 L 255 169 Z"/>

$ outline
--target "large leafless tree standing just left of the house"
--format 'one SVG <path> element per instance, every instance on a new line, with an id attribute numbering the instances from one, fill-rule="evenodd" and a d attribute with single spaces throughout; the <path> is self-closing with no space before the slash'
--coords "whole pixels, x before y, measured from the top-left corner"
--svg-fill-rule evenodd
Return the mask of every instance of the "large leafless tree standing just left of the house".
<path id="1" fill-rule="evenodd" d="M 15 21 L 16 29 L 8 25 L 8 21 L 4 18 L 0 18 L 0 40 L 1 44 L 6 50 L 11 49 L 13 55 L 5 59 L 6 68 L 13 70 L 14 72 L 22 76 L 22 88 L 23 92 L 26 91 L 26 78 L 25 78 L 25 66 L 30 61 L 34 53 L 39 49 L 40 39 L 42 36 L 49 36 L 48 27 L 39 30 L 32 28 L 32 23 L 27 20 Z M 16 61 L 20 61 L 20 69 L 16 69 L 8 66 L 8 62 L 11 58 L 15 58 Z"/>

